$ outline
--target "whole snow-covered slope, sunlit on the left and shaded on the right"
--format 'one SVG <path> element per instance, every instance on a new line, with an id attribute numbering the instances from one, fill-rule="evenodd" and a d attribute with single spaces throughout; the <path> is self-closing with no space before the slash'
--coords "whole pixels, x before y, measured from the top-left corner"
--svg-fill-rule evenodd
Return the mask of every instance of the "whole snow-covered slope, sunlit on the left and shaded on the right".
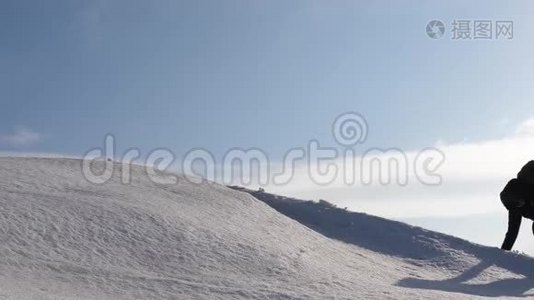
<path id="1" fill-rule="evenodd" d="M 158 186 L 141 167 L 130 185 L 118 172 L 93 185 L 80 166 L 0 158 L 0 299 L 459 299 L 534 287 L 531 258 L 402 223 L 264 194 L 277 211 L 185 179 Z"/>

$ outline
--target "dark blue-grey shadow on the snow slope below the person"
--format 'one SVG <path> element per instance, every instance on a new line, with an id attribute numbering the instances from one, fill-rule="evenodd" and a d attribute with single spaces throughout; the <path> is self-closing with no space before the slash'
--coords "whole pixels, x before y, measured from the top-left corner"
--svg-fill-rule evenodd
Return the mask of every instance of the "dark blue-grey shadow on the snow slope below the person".
<path id="1" fill-rule="evenodd" d="M 457 269 L 456 262 L 465 260 L 468 256 L 479 261 L 454 278 L 446 280 L 405 278 L 397 282 L 397 286 L 488 297 L 534 296 L 525 294 L 534 288 L 534 259 L 530 257 L 503 252 L 496 247 L 476 245 L 402 222 L 347 211 L 323 200 L 303 201 L 236 186 L 231 188 L 251 194 L 278 212 L 326 237 L 399 257 L 415 265 L 431 261 L 440 268 Z M 523 278 L 502 279 L 484 284 L 465 283 L 491 266 L 509 270 L 522 275 Z"/>

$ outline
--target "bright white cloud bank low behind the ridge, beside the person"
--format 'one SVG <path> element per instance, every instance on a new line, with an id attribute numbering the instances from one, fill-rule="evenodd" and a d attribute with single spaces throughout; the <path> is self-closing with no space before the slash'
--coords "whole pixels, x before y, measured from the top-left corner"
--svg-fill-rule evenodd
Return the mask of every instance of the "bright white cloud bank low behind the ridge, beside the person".
<path id="1" fill-rule="evenodd" d="M 386 186 L 378 182 L 364 186 L 357 178 L 356 184 L 349 186 L 342 177 L 330 185 L 319 186 L 309 179 L 303 167 L 297 169 L 288 185 L 269 186 L 267 190 L 303 199 L 322 198 L 341 207 L 390 218 L 503 212 L 499 192 L 527 161 L 534 159 L 534 118 L 502 139 L 450 144 L 440 141 L 435 147 L 445 155 L 438 169 L 443 179 L 439 186 L 421 184 L 413 168 L 408 172 L 407 186 L 394 184 L 396 178 L 391 178 L 393 184 Z M 411 163 L 418 151 L 405 154 Z M 376 157 L 384 159 L 386 155 Z M 357 162 L 360 160 L 361 157 L 356 157 Z M 337 160 L 335 164 L 342 170 L 344 161 Z"/>

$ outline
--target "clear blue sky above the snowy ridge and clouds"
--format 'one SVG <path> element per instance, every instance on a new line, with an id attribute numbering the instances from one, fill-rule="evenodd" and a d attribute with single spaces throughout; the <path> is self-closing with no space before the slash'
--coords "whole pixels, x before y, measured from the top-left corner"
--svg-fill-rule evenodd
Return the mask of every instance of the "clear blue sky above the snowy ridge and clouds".
<path id="1" fill-rule="evenodd" d="M 0 150 L 82 155 L 111 133 L 119 152 L 259 147 L 278 161 L 312 138 L 336 145 L 332 121 L 356 111 L 369 122 L 366 148 L 438 143 L 473 158 L 457 154 L 461 145 L 515 140 L 534 116 L 533 5 L 3 0 Z M 433 19 L 446 25 L 442 39 L 425 34 Z M 512 20 L 514 38 L 452 40 L 455 19 Z M 491 161 L 529 151 L 495 151 Z M 488 179 L 492 193 L 510 170 Z M 313 188 L 281 192 L 319 198 Z"/>

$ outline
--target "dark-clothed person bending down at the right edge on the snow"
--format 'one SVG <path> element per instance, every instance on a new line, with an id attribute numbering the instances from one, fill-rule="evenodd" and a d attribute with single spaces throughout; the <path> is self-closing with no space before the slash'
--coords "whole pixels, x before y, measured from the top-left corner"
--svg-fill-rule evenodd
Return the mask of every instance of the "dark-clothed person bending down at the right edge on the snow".
<path id="1" fill-rule="evenodd" d="M 534 161 L 529 161 L 521 168 L 517 178 L 506 184 L 500 196 L 508 209 L 508 231 L 501 249 L 511 250 L 521 227 L 521 219 L 524 217 L 534 220 Z M 532 233 L 534 234 L 534 223 Z"/>

